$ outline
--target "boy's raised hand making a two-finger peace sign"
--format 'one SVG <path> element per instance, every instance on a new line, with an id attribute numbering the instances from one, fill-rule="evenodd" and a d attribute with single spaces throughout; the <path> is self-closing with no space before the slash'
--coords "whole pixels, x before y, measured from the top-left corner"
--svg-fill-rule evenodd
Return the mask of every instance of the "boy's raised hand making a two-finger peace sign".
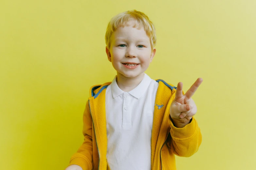
<path id="1" fill-rule="evenodd" d="M 196 82 L 184 95 L 182 94 L 183 84 L 182 82 L 178 83 L 175 99 L 172 101 L 170 106 L 170 115 L 176 127 L 184 127 L 190 122 L 192 116 L 196 114 L 196 104 L 191 97 L 202 82 L 202 78 L 197 78 Z"/>

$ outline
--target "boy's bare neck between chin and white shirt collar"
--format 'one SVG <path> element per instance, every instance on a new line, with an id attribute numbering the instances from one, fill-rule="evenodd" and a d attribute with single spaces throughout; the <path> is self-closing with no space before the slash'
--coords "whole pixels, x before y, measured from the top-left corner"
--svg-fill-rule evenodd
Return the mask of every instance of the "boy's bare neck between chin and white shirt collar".
<path id="1" fill-rule="evenodd" d="M 137 87 L 144 78 L 144 72 L 134 78 L 128 78 L 117 72 L 116 83 L 118 87 L 124 91 L 129 92 Z"/>

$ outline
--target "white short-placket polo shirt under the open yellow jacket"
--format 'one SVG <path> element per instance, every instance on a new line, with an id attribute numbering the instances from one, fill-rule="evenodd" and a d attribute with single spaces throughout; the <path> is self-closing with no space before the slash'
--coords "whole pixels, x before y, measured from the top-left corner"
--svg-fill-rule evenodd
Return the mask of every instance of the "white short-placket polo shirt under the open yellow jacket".
<path id="1" fill-rule="evenodd" d="M 116 76 L 106 89 L 107 162 L 111 170 L 150 170 L 154 105 L 159 83 L 144 73 L 122 91 Z"/>

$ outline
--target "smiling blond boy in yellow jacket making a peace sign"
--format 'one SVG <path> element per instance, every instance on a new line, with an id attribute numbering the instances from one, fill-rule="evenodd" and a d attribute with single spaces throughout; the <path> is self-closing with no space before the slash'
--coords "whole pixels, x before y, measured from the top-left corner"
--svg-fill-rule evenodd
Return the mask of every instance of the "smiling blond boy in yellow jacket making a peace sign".
<path id="1" fill-rule="evenodd" d="M 114 16 L 106 53 L 117 75 L 92 86 L 83 114 L 84 142 L 66 170 L 176 170 L 175 156 L 189 157 L 202 140 L 192 95 L 144 72 L 156 49 L 153 23 L 139 11 Z"/>

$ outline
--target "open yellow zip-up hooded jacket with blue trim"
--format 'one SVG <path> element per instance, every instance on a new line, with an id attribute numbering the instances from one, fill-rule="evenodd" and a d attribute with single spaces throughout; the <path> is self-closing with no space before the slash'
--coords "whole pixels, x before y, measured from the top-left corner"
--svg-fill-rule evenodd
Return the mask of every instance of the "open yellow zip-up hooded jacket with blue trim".
<path id="1" fill-rule="evenodd" d="M 170 105 L 177 87 L 157 79 L 151 138 L 151 169 L 176 170 L 175 156 L 189 157 L 196 153 L 202 135 L 194 117 L 183 128 L 176 128 L 170 117 Z M 71 157 L 70 165 L 76 164 L 83 170 L 110 170 L 107 154 L 107 125 L 105 111 L 106 88 L 111 82 L 94 85 L 83 114 L 84 142 Z M 184 92 L 182 91 L 184 94 Z"/>

